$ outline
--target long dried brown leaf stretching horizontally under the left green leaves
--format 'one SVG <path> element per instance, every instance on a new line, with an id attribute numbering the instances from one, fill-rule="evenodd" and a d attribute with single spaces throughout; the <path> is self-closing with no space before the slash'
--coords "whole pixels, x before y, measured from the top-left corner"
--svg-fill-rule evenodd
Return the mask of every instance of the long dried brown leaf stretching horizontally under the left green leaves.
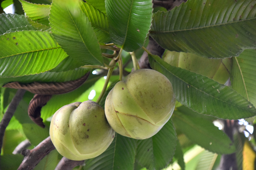
<path id="1" fill-rule="evenodd" d="M 72 80 L 68 82 L 54 82 L 54 83 L 29 83 L 21 84 L 19 82 L 7 83 L 3 87 L 15 88 L 15 89 L 25 89 L 34 94 L 40 95 L 56 95 L 68 93 L 74 89 L 77 89 L 81 86 L 89 76 L 89 73 L 86 73 L 84 76 L 77 80 Z"/>

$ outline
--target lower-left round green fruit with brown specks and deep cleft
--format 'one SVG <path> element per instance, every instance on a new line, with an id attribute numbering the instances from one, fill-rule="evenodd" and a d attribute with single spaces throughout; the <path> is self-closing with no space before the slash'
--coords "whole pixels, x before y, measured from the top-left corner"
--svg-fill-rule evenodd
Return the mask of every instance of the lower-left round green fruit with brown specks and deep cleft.
<path id="1" fill-rule="evenodd" d="M 61 107 L 50 124 L 52 143 L 62 156 L 70 160 L 100 155 L 109 147 L 114 135 L 103 108 L 90 100 Z"/>

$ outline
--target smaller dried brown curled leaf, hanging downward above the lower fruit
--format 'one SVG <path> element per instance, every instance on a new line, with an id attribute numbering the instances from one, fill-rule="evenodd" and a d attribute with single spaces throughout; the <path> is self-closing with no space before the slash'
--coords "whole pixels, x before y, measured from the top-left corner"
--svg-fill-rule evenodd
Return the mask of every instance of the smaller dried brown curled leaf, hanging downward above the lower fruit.
<path id="1" fill-rule="evenodd" d="M 34 98 L 29 102 L 28 115 L 30 119 L 35 122 L 38 126 L 44 128 L 43 119 L 41 116 L 41 109 L 51 99 L 52 95 L 38 95 L 35 94 Z"/>

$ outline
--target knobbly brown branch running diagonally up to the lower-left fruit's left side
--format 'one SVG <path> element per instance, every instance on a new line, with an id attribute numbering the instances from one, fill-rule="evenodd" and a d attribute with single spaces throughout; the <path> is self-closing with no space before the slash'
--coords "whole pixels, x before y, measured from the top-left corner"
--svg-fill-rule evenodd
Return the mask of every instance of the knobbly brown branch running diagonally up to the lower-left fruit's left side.
<path id="1" fill-rule="evenodd" d="M 17 170 L 31 170 L 55 147 L 51 142 L 50 136 L 39 143 L 34 149 L 23 149 L 21 154 L 24 159 Z"/>

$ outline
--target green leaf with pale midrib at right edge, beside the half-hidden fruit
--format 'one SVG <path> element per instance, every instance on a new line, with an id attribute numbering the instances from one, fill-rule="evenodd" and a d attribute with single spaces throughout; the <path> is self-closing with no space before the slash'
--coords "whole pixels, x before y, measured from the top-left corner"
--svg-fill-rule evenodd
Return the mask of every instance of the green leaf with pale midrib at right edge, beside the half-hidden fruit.
<path id="1" fill-rule="evenodd" d="M 239 57 L 233 57 L 231 85 L 243 97 L 256 105 L 256 50 L 244 50 Z M 247 121 L 253 122 L 255 118 Z"/>

